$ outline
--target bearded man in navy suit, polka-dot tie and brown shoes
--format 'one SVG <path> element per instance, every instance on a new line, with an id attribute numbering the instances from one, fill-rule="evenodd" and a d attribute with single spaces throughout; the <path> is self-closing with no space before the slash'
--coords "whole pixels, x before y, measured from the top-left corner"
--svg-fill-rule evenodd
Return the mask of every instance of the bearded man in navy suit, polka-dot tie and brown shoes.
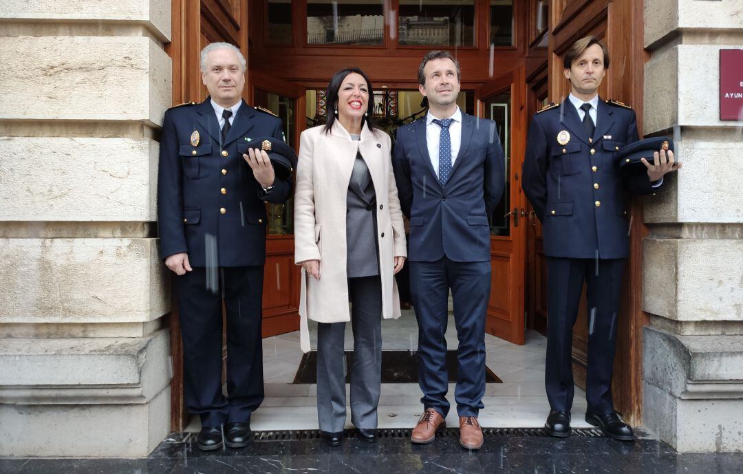
<path id="1" fill-rule="evenodd" d="M 447 51 L 418 68 L 425 117 L 398 129 L 393 164 L 400 206 L 410 220 L 410 291 L 418 319 L 418 383 L 425 412 L 410 440 L 426 444 L 449 412 L 446 366 L 449 290 L 459 345 L 455 391 L 459 444 L 479 449 L 485 392 L 485 316 L 490 298 L 491 215 L 503 195 L 503 150 L 492 120 L 463 114 L 461 74 Z"/>

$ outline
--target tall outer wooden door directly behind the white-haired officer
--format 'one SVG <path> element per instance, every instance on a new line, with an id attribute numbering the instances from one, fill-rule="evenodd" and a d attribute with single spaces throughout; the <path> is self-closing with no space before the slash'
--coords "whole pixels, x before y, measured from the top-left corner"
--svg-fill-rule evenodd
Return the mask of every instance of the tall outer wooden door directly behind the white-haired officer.
<path id="1" fill-rule="evenodd" d="M 247 60 L 247 1 L 244 0 L 174 0 L 171 4 L 172 42 L 166 52 L 172 59 L 172 100 L 174 104 L 201 102 L 207 88 L 201 83 L 199 53 L 211 42 L 229 42 L 236 45 Z M 248 81 L 250 77 L 247 78 Z M 247 99 L 247 84 L 243 98 Z M 173 378 L 171 380 L 171 429 L 182 432 L 189 422 L 183 394 L 183 345 L 178 309 L 167 316 L 170 328 L 170 352 Z M 226 349 L 222 348 L 223 357 Z M 224 373 L 223 373 L 224 380 Z"/>

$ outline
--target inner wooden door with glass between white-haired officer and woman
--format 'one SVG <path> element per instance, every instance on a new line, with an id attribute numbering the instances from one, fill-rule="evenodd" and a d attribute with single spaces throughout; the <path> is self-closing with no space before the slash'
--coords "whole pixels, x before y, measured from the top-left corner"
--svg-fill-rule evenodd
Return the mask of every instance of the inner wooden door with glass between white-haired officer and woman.
<path id="1" fill-rule="evenodd" d="M 305 125 L 305 88 L 251 69 L 250 105 L 276 114 L 286 143 L 299 152 Z M 263 279 L 263 337 L 299 330 L 299 267 L 294 264 L 293 198 L 266 204 L 266 264 Z"/>

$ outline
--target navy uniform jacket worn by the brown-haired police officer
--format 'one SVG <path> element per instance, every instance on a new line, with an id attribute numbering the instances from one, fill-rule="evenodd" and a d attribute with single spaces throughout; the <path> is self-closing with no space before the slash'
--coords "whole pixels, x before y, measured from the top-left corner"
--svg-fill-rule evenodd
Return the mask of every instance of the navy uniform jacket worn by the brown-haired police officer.
<path id="1" fill-rule="evenodd" d="M 544 226 L 546 256 L 623 259 L 629 255 L 624 193 L 647 194 L 653 188 L 645 172 L 620 174 L 616 155 L 637 140 L 635 111 L 611 101 L 599 100 L 590 140 L 567 99 L 534 115 L 522 187 Z"/>

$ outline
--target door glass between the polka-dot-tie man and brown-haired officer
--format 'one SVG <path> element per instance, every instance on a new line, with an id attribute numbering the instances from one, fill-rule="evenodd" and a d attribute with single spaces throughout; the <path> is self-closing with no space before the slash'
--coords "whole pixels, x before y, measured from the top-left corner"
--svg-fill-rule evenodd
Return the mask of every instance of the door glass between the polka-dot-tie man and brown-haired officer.
<path id="1" fill-rule="evenodd" d="M 490 216 L 490 233 L 493 236 L 510 235 L 510 215 L 506 215 L 510 209 L 510 91 L 490 97 L 485 101 L 485 117 L 496 122 L 496 132 L 501 139 L 503 155 L 505 157 L 505 187 L 503 198 Z"/>

